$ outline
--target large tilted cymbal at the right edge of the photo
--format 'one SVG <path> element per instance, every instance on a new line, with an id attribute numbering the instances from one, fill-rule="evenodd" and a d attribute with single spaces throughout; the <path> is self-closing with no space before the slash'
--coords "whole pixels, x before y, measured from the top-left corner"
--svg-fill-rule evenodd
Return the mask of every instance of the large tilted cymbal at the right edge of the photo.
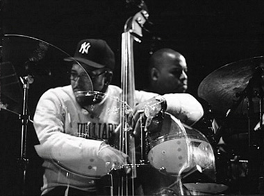
<path id="1" fill-rule="evenodd" d="M 198 96 L 206 100 L 212 109 L 227 112 L 240 100 L 249 80 L 256 73 L 256 68 L 264 67 L 264 57 L 252 57 L 221 66 L 201 81 Z M 254 108 L 258 107 L 258 98 L 253 98 Z M 257 111 L 257 110 L 256 110 Z M 242 100 L 233 111 L 238 114 L 247 112 L 247 100 Z"/>

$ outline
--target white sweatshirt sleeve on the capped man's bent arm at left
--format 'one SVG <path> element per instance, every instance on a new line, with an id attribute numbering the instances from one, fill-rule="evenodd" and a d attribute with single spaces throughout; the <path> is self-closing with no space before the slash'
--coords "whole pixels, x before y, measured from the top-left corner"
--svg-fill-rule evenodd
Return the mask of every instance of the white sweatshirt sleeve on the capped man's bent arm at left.
<path id="1" fill-rule="evenodd" d="M 52 91 L 40 98 L 33 120 L 40 140 L 35 150 L 43 159 L 85 161 L 98 157 L 101 141 L 65 134 L 65 110 Z"/>

